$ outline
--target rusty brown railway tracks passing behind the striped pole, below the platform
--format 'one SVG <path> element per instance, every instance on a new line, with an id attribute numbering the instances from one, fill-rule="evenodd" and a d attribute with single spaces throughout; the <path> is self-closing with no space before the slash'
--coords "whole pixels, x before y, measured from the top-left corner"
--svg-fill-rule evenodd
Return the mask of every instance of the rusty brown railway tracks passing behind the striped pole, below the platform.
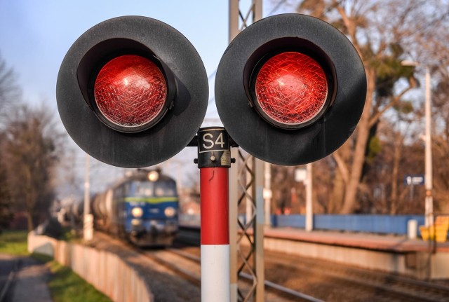
<path id="1" fill-rule="evenodd" d="M 142 250 L 126 246 L 199 289 L 199 247 L 178 243 L 172 249 Z M 265 282 L 265 301 L 449 301 L 449 286 L 445 282 L 425 282 L 277 252 L 265 252 L 265 277 L 272 281 Z M 239 289 L 243 294 L 252 284 L 250 276 L 242 273 Z"/>

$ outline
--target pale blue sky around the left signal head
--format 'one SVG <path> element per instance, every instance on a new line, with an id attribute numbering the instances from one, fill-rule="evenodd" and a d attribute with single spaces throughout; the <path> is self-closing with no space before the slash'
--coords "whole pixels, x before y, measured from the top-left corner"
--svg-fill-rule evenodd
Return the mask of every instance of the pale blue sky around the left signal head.
<path id="1" fill-rule="evenodd" d="M 281 1 L 283 2 L 285 1 Z M 278 3 L 276 0 L 264 1 L 263 16 L 288 10 L 284 6 L 276 6 Z M 248 5 L 248 0 L 241 0 L 242 11 L 246 11 Z M 177 29 L 198 51 L 206 73 L 211 78 L 211 102 L 206 118 L 216 121 L 218 114 L 213 102 L 213 74 L 229 42 L 228 6 L 226 0 L 0 0 L 0 57 L 8 67 L 14 69 L 24 101 L 32 106 L 44 103 L 56 114 L 55 90 L 60 64 L 72 43 L 83 32 L 104 20 L 121 15 L 154 18 Z M 56 120 L 60 122 L 59 116 Z M 62 123 L 60 126 L 62 127 Z M 76 148 L 74 146 L 75 150 Z M 81 149 L 77 151 L 74 167 L 78 170 L 78 178 L 82 179 L 83 153 Z M 173 167 L 180 166 L 180 163 L 185 166 L 188 162 L 195 169 L 192 164 L 195 153 L 196 150 L 182 151 L 171 164 L 165 165 L 170 165 L 175 177 L 179 174 L 176 170 L 179 171 L 180 168 Z M 107 167 L 95 160 L 91 161 L 91 165 L 93 181 L 105 178 L 95 177 L 95 173 L 103 175 Z M 107 173 L 109 177 L 117 178 L 123 174 L 122 170 L 113 171 Z M 187 173 L 181 173 L 185 174 L 182 181 L 189 181 Z M 112 181 L 105 179 L 103 183 Z"/>

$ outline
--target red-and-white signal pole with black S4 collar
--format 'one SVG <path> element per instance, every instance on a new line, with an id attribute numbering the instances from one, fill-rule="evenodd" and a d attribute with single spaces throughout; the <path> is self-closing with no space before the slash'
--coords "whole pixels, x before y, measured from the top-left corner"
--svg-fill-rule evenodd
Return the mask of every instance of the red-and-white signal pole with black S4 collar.
<path id="1" fill-rule="evenodd" d="M 198 135 L 201 301 L 229 302 L 229 137 L 224 128 L 201 128 Z"/>

